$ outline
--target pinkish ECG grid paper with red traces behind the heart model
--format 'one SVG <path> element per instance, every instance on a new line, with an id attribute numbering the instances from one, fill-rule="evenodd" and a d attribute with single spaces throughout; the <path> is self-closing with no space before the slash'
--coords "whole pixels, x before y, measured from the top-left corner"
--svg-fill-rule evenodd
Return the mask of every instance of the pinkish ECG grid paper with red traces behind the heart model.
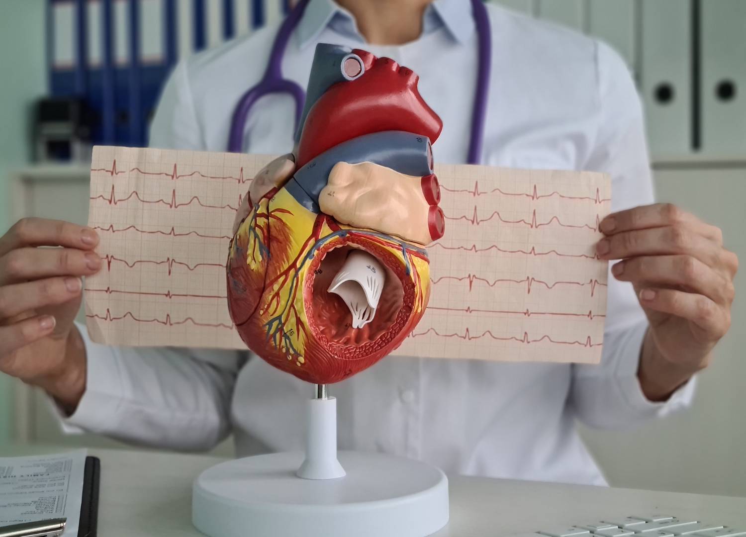
<path id="1" fill-rule="evenodd" d="M 95 147 L 89 225 L 103 268 L 87 327 L 109 345 L 245 348 L 228 314 L 236 209 L 274 157 Z M 445 236 L 427 248 L 430 303 L 397 355 L 601 359 L 611 183 L 595 172 L 436 165 Z"/>

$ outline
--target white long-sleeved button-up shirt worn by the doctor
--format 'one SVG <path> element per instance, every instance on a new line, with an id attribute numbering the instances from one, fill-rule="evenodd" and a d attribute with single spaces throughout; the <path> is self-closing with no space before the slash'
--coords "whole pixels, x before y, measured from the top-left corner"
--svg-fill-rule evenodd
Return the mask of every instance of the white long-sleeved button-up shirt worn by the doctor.
<path id="1" fill-rule="evenodd" d="M 492 80 L 483 164 L 589 169 L 612 175 L 612 209 L 653 201 L 642 110 L 624 62 L 608 46 L 494 5 Z M 364 45 L 351 15 L 311 0 L 283 59 L 305 87 L 315 44 L 363 46 L 420 76 L 443 120 L 436 161 L 466 160 L 477 72 L 468 0 L 436 0 L 418 40 Z M 151 145 L 225 151 L 236 102 L 263 74 L 277 26 L 180 63 L 160 101 Z M 245 126 L 244 150 L 292 148 L 292 101 L 263 98 Z M 609 276 L 601 365 L 494 363 L 387 357 L 330 386 L 339 447 L 422 459 L 445 471 L 604 484 L 575 430 L 626 427 L 689 404 L 693 382 L 666 403 L 645 399 L 636 377 L 647 328 L 629 283 Z M 82 330 L 84 332 L 84 330 Z M 231 431 L 240 455 L 302 449 L 302 404 L 311 386 L 248 353 L 110 348 L 85 336 L 87 391 L 66 421 L 119 439 L 184 450 Z"/>

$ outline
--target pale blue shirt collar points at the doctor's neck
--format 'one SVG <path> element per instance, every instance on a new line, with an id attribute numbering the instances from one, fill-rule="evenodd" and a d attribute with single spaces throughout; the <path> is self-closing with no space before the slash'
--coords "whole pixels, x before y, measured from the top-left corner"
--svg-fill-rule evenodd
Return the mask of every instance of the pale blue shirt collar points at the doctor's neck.
<path id="1" fill-rule="evenodd" d="M 310 0 L 296 29 L 300 48 L 306 48 L 316 41 L 329 26 L 365 43 L 348 10 L 333 0 Z M 422 21 L 422 34 L 429 34 L 444 26 L 457 43 L 466 43 L 474 31 L 474 19 L 468 0 L 435 0 L 427 6 Z"/>

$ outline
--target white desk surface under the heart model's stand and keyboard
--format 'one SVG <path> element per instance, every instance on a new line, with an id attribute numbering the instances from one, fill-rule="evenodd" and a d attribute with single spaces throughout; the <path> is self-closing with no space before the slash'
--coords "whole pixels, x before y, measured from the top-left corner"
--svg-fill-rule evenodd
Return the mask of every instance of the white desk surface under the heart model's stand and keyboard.
<path id="1" fill-rule="evenodd" d="M 0 446 L 0 456 L 63 448 Z M 222 460 L 201 455 L 91 449 L 101 459 L 98 530 L 102 537 L 200 536 L 192 527 L 192 480 Z M 433 537 L 507 537 L 663 513 L 746 529 L 746 498 L 606 489 L 449 476 L 451 522 Z M 383 536 L 382 536 L 383 537 Z"/>

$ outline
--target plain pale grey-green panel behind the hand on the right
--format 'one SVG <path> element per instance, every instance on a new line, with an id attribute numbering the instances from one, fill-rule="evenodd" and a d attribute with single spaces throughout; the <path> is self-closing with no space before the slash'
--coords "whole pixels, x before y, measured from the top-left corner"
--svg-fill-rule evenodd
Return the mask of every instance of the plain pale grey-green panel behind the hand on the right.
<path id="1" fill-rule="evenodd" d="M 658 198 L 724 230 L 746 263 L 746 160 L 740 167 L 658 170 Z M 700 374 L 695 406 L 631 431 L 584 431 L 612 486 L 746 496 L 746 276 L 736 276 L 730 333 Z"/>

